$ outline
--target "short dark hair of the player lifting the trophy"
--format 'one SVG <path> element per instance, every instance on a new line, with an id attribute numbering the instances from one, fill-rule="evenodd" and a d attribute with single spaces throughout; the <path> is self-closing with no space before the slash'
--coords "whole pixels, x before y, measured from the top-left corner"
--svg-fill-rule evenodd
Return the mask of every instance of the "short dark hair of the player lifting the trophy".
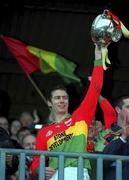
<path id="1" fill-rule="evenodd" d="M 64 85 L 59 84 L 59 85 L 56 85 L 56 86 L 52 87 L 51 89 L 49 89 L 49 91 L 47 93 L 47 100 L 49 100 L 49 101 L 51 100 L 52 92 L 54 92 L 56 90 L 62 90 L 62 91 L 65 91 L 68 94 L 67 88 Z"/>

